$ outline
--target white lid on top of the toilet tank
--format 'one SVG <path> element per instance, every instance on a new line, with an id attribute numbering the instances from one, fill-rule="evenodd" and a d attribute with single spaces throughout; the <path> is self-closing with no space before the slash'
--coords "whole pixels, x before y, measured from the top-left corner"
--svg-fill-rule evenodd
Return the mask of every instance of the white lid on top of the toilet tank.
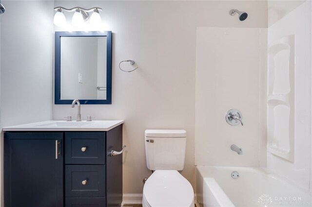
<path id="1" fill-rule="evenodd" d="M 147 129 L 145 137 L 150 138 L 186 138 L 186 131 L 183 129 Z"/>

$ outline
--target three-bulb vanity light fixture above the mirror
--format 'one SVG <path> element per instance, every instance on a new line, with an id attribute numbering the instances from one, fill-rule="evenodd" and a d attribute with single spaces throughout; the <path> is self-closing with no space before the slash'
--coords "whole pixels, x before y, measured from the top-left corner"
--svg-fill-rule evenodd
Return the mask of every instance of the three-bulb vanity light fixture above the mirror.
<path id="1" fill-rule="evenodd" d="M 72 24 L 75 27 L 80 27 L 83 22 L 88 21 L 90 17 L 89 12 L 93 12 L 90 19 L 90 23 L 92 24 L 92 26 L 99 26 L 102 22 L 101 17 L 99 16 L 99 11 L 102 11 L 102 8 L 99 7 L 93 7 L 91 9 L 84 9 L 81 7 L 66 9 L 64 7 L 58 6 L 55 7 L 54 10 L 56 11 L 56 14 L 54 16 L 53 22 L 58 27 L 66 26 L 66 18 L 63 11 L 75 12 L 72 18 Z"/>

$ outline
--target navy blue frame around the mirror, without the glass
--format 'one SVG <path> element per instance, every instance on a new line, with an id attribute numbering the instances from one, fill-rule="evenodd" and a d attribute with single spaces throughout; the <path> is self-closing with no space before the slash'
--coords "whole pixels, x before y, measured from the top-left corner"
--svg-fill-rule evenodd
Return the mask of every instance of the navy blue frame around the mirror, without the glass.
<path id="1" fill-rule="evenodd" d="M 112 104 L 112 32 L 55 32 L 55 104 L 72 104 L 60 99 L 60 38 L 64 36 L 106 36 L 106 100 L 80 100 L 80 104 Z"/>

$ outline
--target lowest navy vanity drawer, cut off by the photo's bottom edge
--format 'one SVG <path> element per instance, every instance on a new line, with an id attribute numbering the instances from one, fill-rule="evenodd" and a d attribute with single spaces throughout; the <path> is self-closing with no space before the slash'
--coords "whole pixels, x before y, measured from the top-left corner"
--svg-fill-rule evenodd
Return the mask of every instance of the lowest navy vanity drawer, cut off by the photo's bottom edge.
<path id="1" fill-rule="evenodd" d="M 65 198 L 65 207 L 105 207 L 105 198 Z"/>

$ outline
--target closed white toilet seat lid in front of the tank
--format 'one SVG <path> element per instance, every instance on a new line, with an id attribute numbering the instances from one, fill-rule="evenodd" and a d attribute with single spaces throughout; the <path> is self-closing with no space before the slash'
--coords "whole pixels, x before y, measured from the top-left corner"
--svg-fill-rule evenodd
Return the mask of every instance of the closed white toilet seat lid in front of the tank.
<path id="1" fill-rule="evenodd" d="M 143 188 L 143 207 L 194 207 L 192 185 L 175 170 L 157 170 Z"/>

